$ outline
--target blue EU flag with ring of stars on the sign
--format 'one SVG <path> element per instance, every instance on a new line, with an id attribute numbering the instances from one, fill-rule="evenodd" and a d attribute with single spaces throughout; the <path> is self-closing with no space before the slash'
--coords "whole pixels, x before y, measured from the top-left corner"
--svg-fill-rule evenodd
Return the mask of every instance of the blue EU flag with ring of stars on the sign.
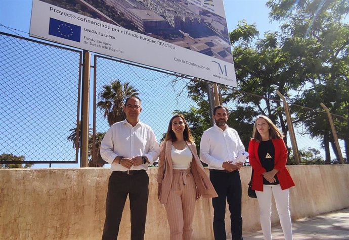
<path id="1" fill-rule="evenodd" d="M 81 27 L 50 18 L 49 34 L 75 42 L 80 42 Z"/>

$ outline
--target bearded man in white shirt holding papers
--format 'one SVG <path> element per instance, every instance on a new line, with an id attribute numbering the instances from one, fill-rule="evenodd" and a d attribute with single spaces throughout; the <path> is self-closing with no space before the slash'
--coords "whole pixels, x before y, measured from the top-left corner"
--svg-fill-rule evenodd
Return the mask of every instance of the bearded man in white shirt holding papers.
<path id="1" fill-rule="evenodd" d="M 233 161 L 245 152 L 236 130 L 229 128 L 228 108 L 216 106 L 213 109 L 215 125 L 207 129 L 200 142 L 200 160 L 208 164 L 210 180 L 218 194 L 212 198 L 213 233 L 215 240 L 226 240 L 226 200 L 229 204 L 233 240 L 242 239 L 241 180 L 239 169 L 242 162 Z"/>

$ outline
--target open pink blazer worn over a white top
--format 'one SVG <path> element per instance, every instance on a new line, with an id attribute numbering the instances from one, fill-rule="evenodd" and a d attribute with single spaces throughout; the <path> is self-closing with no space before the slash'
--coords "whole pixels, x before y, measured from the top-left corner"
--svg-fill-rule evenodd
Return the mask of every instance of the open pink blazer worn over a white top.
<path id="1" fill-rule="evenodd" d="M 193 154 L 191 163 L 191 172 L 194 177 L 196 188 L 199 190 L 202 198 L 218 197 L 215 192 L 205 169 L 203 168 L 196 151 L 195 143 L 187 141 L 187 145 Z M 167 204 L 169 191 L 172 184 L 172 158 L 171 158 L 171 141 L 163 141 L 160 144 L 159 167 L 157 172 L 157 182 L 161 184 L 159 200 L 162 204 Z"/>

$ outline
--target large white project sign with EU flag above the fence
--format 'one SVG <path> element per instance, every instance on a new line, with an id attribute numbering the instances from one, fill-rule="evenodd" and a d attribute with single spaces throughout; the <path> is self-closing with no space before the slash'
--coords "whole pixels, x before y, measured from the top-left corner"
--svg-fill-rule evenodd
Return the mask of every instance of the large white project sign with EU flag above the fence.
<path id="1" fill-rule="evenodd" d="M 152 0 L 141 2 L 105 1 L 127 15 L 122 22 L 133 31 L 82 0 L 105 21 L 33 0 L 30 36 L 236 87 L 222 0 L 183 0 L 162 10 Z"/>

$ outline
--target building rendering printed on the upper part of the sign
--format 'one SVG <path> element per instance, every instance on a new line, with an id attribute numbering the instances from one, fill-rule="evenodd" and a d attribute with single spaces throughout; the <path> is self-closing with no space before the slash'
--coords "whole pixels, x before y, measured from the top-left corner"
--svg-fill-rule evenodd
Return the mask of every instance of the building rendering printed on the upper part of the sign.
<path id="1" fill-rule="evenodd" d="M 144 34 L 232 63 L 226 20 L 188 1 L 105 0 Z"/>

